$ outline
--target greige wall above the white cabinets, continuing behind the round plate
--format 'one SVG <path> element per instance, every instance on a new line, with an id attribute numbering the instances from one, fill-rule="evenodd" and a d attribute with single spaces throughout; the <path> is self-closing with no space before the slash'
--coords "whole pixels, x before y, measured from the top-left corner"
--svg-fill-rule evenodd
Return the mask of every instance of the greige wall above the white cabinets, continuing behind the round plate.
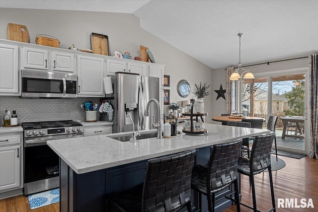
<path id="1" fill-rule="evenodd" d="M 60 40 L 60 48 L 74 44 L 79 49 L 90 49 L 90 34 L 99 32 L 108 36 L 111 55 L 114 51 L 129 51 L 133 56 L 140 45 L 146 46 L 152 51 L 156 63 L 166 65 L 164 74 L 170 75 L 170 87 L 164 88 L 170 89 L 170 102 L 195 97 L 193 93 L 187 98 L 177 94 L 176 86 L 181 79 L 188 80 L 191 91 L 194 90 L 194 83 L 202 81 L 212 84 L 211 68 L 140 28 L 139 18 L 133 14 L 0 8 L 1 39 L 7 39 L 8 23 L 25 25 L 30 43 L 35 43 L 37 34 L 47 34 Z M 211 85 L 210 92 L 218 87 Z M 205 98 L 206 112 L 209 113 L 207 123 L 211 122 L 211 96 Z"/>

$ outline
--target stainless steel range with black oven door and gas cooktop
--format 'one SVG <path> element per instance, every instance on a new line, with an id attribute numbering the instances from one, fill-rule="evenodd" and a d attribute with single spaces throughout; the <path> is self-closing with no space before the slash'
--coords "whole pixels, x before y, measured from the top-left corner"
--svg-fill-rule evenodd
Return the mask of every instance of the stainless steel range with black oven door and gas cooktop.
<path id="1" fill-rule="evenodd" d="M 48 140 L 83 136 L 83 127 L 72 120 L 24 122 L 24 195 L 59 187 L 59 156 Z"/>

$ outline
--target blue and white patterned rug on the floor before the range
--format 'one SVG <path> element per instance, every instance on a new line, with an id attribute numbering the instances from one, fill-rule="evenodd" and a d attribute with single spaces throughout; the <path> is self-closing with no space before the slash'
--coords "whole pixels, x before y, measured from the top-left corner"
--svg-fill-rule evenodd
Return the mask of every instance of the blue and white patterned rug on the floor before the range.
<path id="1" fill-rule="evenodd" d="M 37 209 L 60 202 L 60 189 L 53 189 L 28 196 L 31 209 Z"/>

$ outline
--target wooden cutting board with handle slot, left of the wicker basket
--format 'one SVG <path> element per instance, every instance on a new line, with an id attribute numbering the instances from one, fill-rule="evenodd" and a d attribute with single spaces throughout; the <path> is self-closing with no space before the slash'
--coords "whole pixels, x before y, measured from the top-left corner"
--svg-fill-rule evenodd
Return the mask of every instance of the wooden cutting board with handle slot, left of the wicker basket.
<path id="1" fill-rule="evenodd" d="M 8 40 L 30 43 L 29 31 L 24 25 L 8 23 L 6 33 Z"/>

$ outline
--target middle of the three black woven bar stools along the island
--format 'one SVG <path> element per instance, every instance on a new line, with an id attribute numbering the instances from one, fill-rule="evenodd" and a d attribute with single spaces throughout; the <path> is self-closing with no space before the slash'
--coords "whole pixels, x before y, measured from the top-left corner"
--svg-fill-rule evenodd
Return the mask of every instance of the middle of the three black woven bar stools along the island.
<path id="1" fill-rule="evenodd" d="M 214 212 L 216 201 L 228 198 L 235 201 L 239 212 L 238 160 L 242 140 L 220 143 L 211 146 L 208 167 L 195 166 L 192 172 L 191 187 L 199 193 L 199 208 L 202 211 L 202 194 L 207 196 L 209 212 Z M 215 199 L 215 194 L 234 184 L 235 192 Z M 230 197 L 235 194 L 235 200 Z"/>

